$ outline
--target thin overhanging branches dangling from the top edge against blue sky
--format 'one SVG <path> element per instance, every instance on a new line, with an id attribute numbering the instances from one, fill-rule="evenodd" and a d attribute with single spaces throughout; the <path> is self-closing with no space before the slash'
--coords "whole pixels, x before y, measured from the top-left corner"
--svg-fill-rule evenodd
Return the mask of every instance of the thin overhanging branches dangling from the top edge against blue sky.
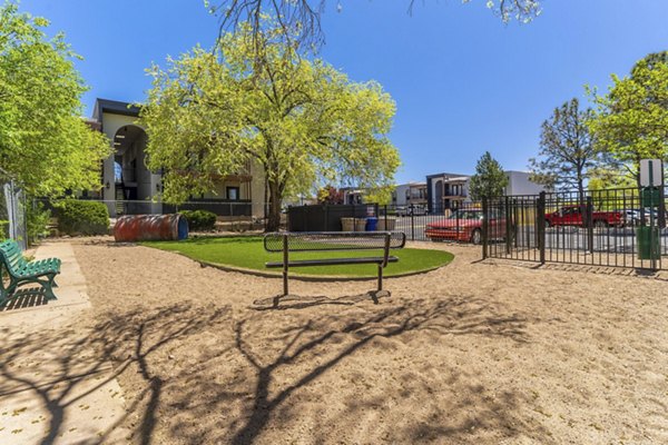
<path id="1" fill-rule="evenodd" d="M 405 1 L 409 12 L 412 12 L 415 0 Z M 469 2 L 471 0 L 462 0 L 462 3 Z M 268 13 L 278 18 L 278 23 L 284 30 L 291 30 L 283 36 L 293 42 L 318 46 L 324 40 L 321 17 L 327 0 L 205 0 L 205 4 L 220 17 L 222 32 L 247 22 L 253 30 L 250 36 L 257 36 L 262 28 L 263 14 Z M 336 4 L 341 10 L 345 0 L 337 0 Z M 540 13 L 539 0 L 485 0 L 485 4 L 504 22 L 512 19 L 528 22 Z"/>

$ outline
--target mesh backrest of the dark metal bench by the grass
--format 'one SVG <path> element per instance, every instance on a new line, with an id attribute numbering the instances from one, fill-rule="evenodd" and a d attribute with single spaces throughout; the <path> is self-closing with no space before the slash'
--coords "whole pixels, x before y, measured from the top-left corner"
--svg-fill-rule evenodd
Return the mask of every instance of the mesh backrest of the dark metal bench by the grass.
<path id="1" fill-rule="evenodd" d="M 406 244 L 401 231 L 283 231 L 267 234 L 267 251 L 387 250 Z"/>

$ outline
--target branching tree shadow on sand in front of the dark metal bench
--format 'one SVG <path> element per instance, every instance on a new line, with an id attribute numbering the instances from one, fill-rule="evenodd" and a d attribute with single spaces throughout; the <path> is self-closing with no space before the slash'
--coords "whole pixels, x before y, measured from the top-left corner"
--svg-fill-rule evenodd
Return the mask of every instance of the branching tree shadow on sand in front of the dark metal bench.
<path id="1" fill-rule="evenodd" d="M 256 373 L 256 384 L 252 403 L 246 407 L 246 421 L 234 434 L 234 444 L 252 444 L 273 423 L 282 425 L 287 418 L 278 418 L 278 408 L 297 390 L 314 383 L 324 374 L 337 368 L 346 358 L 364 350 L 372 353 L 377 339 L 401 338 L 418 332 L 431 332 L 436 337 L 445 335 L 478 335 L 485 337 L 505 337 L 512 342 L 527 342 L 525 318 L 498 314 L 484 301 L 449 298 L 438 301 L 415 300 L 401 306 L 382 307 L 371 315 L 356 319 L 352 317 L 330 316 L 325 319 L 308 319 L 299 326 L 284 327 L 281 347 L 268 356 L 254 349 L 264 349 L 262 343 L 266 338 L 254 335 L 258 324 L 263 324 L 262 315 L 252 315 L 235 324 L 235 346 Z M 346 340 L 342 342 L 341 337 Z M 276 339 L 274 339 L 276 340 Z M 326 350 L 326 352 L 324 352 Z M 326 356 L 323 359 L 323 355 Z M 292 382 L 278 380 L 276 375 L 284 374 L 283 368 L 302 365 L 304 372 Z M 468 388 L 471 390 L 471 388 Z M 475 389 L 475 388 L 473 388 Z M 363 409 L 364 397 L 347 406 L 345 416 L 354 417 L 354 412 Z M 379 403 L 377 400 L 375 402 Z M 490 402 L 482 397 L 465 399 L 463 406 L 450 409 L 471 408 L 466 405 L 484 404 L 483 411 L 495 413 L 490 419 L 466 419 L 458 425 L 418 425 L 411 427 L 393 439 L 419 441 L 424 437 L 456 439 L 469 434 L 472 427 L 502 428 L 512 435 L 513 418 L 517 408 L 517 396 L 505 393 L 503 400 Z M 480 408 L 480 407 L 479 407 Z M 284 411 L 282 416 L 287 416 Z M 298 415 L 298 413 L 296 414 Z M 277 417 L 277 418 L 274 418 Z M 344 425 L 344 423 L 342 423 Z M 345 429 L 345 428 L 343 428 Z"/>

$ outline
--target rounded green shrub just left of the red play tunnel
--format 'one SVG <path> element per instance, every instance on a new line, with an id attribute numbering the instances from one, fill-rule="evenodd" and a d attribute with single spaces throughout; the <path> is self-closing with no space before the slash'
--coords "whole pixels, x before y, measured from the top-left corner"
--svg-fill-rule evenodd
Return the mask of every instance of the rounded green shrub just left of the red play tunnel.
<path id="1" fill-rule="evenodd" d="M 109 210 L 102 202 L 65 200 L 53 206 L 58 230 L 67 235 L 107 235 Z"/>

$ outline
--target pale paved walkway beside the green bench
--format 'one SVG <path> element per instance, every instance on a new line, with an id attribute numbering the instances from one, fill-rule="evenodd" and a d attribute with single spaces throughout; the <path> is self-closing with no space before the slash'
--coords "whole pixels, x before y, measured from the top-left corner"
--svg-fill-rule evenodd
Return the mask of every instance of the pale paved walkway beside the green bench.
<path id="1" fill-rule="evenodd" d="M 58 299 L 33 295 L 0 312 L 0 444 L 126 443 L 112 368 L 71 328 L 90 309 L 73 249 L 45 244 L 36 257 L 62 260 Z"/>

